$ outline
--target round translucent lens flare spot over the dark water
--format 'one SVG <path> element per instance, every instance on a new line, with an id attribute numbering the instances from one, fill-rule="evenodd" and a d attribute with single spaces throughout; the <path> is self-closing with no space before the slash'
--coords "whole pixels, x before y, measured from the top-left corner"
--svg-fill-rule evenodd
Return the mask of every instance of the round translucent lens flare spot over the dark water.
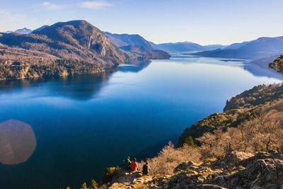
<path id="1" fill-rule="evenodd" d="M 0 123 L 0 163 L 23 163 L 33 154 L 35 147 L 35 134 L 30 125 L 18 120 Z"/>

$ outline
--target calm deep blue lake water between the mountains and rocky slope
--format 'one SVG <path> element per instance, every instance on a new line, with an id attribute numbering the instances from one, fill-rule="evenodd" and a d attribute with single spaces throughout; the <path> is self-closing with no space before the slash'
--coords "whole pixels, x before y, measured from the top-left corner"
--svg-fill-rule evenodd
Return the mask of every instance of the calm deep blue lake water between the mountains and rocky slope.
<path id="1" fill-rule="evenodd" d="M 185 127 L 221 112 L 226 99 L 283 80 L 248 62 L 176 56 L 110 74 L 0 82 L 0 122 L 21 120 L 37 147 L 0 164 L 1 188 L 79 188 L 125 156 L 154 156 Z"/>

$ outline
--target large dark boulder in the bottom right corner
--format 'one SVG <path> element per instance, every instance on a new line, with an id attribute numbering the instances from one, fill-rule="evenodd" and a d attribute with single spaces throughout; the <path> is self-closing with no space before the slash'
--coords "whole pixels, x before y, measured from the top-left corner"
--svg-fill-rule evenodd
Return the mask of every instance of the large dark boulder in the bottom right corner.
<path id="1" fill-rule="evenodd" d="M 205 183 L 220 185 L 225 188 L 282 188 L 283 185 L 283 160 L 282 155 L 276 151 L 259 152 L 248 159 L 250 154 L 241 154 L 243 160 L 236 158 L 233 153 L 224 159 L 234 165 L 245 166 L 231 175 L 221 175 L 205 181 Z M 227 163 L 229 164 L 229 163 Z"/>

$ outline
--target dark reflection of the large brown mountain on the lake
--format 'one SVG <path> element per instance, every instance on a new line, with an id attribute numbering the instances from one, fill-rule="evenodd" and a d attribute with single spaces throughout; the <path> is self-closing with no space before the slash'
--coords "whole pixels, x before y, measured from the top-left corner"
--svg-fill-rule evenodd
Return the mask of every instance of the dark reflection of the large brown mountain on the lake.
<path id="1" fill-rule="evenodd" d="M 69 76 L 67 78 L 40 78 L 40 79 L 18 79 L 0 81 L 0 94 L 6 98 L 13 98 L 10 93 L 25 91 L 18 98 L 36 98 L 37 93 L 44 96 L 62 96 L 79 101 L 87 101 L 94 98 L 105 82 L 108 81 L 110 73 L 83 74 Z"/>

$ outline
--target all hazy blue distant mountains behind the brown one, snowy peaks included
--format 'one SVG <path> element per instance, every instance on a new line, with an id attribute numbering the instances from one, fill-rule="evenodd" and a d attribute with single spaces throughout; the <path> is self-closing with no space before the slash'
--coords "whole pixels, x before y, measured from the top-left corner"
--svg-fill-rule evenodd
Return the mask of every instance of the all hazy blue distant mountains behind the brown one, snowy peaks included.
<path id="1" fill-rule="evenodd" d="M 49 27 L 43 25 L 35 30 L 28 28 L 18 29 L 14 32 L 5 33 L 38 33 L 40 30 Z M 188 55 L 198 55 L 203 57 L 224 57 L 238 59 L 262 59 L 275 57 L 283 53 L 283 37 L 277 38 L 258 38 L 246 42 L 233 43 L 232 45 L 199 45 L 195 42 L 168 42 L 155 44 L 141 35 L 113 34 L 105 32 L 111 42 L 134 59 L 168 59 L 175 53 Z"/>

